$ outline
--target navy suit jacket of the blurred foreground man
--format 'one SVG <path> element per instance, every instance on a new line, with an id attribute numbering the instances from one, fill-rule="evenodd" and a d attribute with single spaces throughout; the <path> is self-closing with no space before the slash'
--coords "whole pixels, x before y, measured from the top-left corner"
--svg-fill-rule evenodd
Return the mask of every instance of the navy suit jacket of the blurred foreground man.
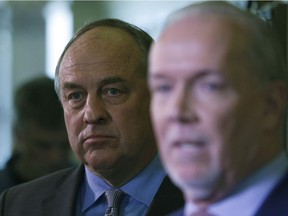
<path id="1" fill-rule="evenodd" d="M 183 208 L 169 214 L 169 216 L 183 215 Z M 288 216 L 288 173 L 272 190 L 254 216 Z"/>

